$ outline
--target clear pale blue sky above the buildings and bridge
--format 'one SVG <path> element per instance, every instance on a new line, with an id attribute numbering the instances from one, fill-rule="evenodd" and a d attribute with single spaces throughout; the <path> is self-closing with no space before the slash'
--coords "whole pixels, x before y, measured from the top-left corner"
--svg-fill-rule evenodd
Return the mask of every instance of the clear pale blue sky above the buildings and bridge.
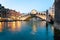
<path id="1" fill-rule="evenodd" d="M 54 0 L 0 0 L 5 8 L 20 11 L 21 13 L 28 13 L 32 9 L 37 11 L 45 11 L 49 9 L 54 3 Z"/>

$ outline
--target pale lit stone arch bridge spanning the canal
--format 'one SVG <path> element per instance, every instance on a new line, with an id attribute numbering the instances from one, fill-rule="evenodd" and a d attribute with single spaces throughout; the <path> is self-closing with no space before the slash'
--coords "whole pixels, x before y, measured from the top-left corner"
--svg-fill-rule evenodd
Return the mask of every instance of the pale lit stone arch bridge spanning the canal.
<path id="1" fill-rule="evenodd" d="M 30 20 L 31 18 L 39 18 L 40 20 L 46 20 L 46 15 L 41 14 L 28 14 L 20 17 L 20 20 Z"/>

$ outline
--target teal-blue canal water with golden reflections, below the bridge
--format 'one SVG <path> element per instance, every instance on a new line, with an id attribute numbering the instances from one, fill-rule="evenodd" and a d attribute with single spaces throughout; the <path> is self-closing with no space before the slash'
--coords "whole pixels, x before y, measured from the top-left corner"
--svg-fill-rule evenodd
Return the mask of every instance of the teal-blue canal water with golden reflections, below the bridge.
<path id="1" fill-rule="evenodd" d="M 0 40 L 54 40 L 54 27 L 45 21 L 0 22 Z"/>

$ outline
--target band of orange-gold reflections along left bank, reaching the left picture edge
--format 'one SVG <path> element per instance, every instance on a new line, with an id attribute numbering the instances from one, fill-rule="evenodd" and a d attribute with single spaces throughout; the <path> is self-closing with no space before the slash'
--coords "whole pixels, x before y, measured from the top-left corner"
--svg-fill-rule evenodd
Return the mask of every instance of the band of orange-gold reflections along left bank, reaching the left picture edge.
<path id="1" fill-rule="evenodd" d="M 5 25 L 9 31 L 20 31 L 21 29 L 21 21 L 0 22 L 0 32 L 2 32 L 3 29 L 5 29 Z"/>

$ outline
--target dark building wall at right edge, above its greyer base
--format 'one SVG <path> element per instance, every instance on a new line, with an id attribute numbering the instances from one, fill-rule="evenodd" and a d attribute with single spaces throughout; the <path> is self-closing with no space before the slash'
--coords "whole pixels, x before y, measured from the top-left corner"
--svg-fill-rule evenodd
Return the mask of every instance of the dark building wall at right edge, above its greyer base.
<path id="1" fill-rule="evenodd" d="M 60 23 L 60 0 L 55 0 L 55 21 Z"/>

